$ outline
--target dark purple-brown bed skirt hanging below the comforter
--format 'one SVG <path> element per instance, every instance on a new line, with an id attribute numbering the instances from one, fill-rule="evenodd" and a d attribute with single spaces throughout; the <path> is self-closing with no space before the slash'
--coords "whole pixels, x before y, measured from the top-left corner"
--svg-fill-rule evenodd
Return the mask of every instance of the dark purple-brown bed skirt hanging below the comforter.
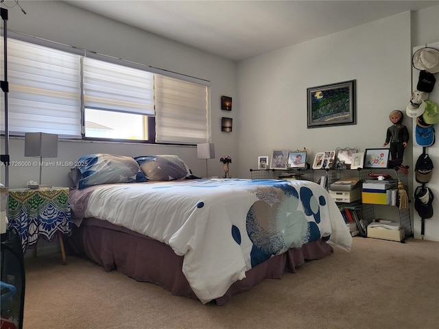
<path id="1" fill-rule="evenodd" d="M 173 295 L 198 300 L 182 273 L 183 257 L 165 243 L 93 218 L 84 219 L 79 228 L 73 226 L 71 237 L 65 242 L 69 254 L 88 258 L 106 271 L 117 269 L 134 280 L 158 284 Z M 224 305 L 233 295 L 249 291 L 264 279 L 280 279 L 285 271 L 295 273 L 305 260 L 324 258 L 331 252 L 333 248 L 323 240 L 289 249 L 247 271 L 246 278 L 232 284 L 213 302 Z"/>

